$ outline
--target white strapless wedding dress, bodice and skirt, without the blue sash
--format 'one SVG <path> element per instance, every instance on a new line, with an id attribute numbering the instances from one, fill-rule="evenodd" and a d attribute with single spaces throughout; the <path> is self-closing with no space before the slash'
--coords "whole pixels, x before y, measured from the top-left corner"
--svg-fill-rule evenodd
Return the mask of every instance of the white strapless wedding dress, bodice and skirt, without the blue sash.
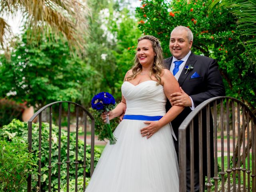
<path id="1" fill-rule="evenodd" d="M 148 80 L 122 84 L 126 115 L 164 116 L 162 85 Z M 104 148 L 86 192 L 178 192 L 178 161 L 170 125 L 142 137 L 145 120 L 124 119 L 116 127 L 117 142 Z"/>

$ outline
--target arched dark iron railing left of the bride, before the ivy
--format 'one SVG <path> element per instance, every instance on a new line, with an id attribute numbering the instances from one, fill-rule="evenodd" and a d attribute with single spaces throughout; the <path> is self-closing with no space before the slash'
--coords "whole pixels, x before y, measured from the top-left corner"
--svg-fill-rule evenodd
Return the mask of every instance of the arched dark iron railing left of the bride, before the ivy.
<path id="1" fill-rule="evenodd" d="M 35 120 L 36 118 L 39 118 L 38 122 L 39 122 L 39 132 L 38 132 L 38 142 L 39 142 L 39 147 L 38 147 L 38 182 L 37 182 L 37 188 L 38 191 L 41 191 L 41 144 L 42 144 L 42 118 L 43 118 L 43 112 L 48 110 L 49 114 L 48 114 L 48 122 L 49 122 L 49 139 L 48 139 L 48 143 L 49 143 L 49 164 L 48 164 L 48 191 L 50 192 L 51 189 L 51 175 L 52 175 L 52 168 L 53 168 L 53 163 L 56 163 L 58 165 L 58 192 L 60 192 L 60 185 L 61 185 L 61 177 L 60 177 L 60 172 L 62 169 L 62 159 L 61 159 L 61 132 L 62 132 L 62 104 L 67 104 L 67 132 L 68 132 L 68 136 L 67 136 L 67 148 L 66 148 L 66 185 L 67 185 L 67 192 L 69 191 L 69 181 L 70 181 L 70 164 L 74 163 L 75 164 L 75 191 L 77 192 L 77 182 L 78 182 L 78 126 L 79 126 L 79 122 L 81 122 L 81 119 L 83 119 L 83 127 L 84 127 L 84 134 L 83 134 L 83 138 L 84 138 L 84 152 L 83 152 L 83 191 L 85 190 L 85 186 L 86 186 L 86 132 L 87 132 L 87 119 L 89 119 L 91 121 L 91 156 L 90 156 L 90 175 L 92 175 L 93 171 L 94 171 L 94 125 L 95 125 L 95 121 L 93 116 L 81 105 L 74 103 L 74 102 L 69 102 L 69 101 L 59 101 L 59 102 L 53 102 L 50 103 L 46 106 L 44 106 L 43 108 L 41 108 L 40 110 L 38 110 L 28 121 L 28 150 L 32 151 L 32 122 L 33 120 Z M 53 121 L 53 107 L 58 108 L 58 114 L 56 114 L 56 116 L 58 116 L 58 162 L 52 162 L 51 156 L 52 156 L 52 121 Z M 76 144 L 75 144 L 75 161 L 71 162 L 70 161 L 70 118 L 71 118 L 71 106 L 74 107 L 74 111 L 75 111 L 75 116 L 76 116 Z M 82 115 L 81 115 L 82 114 Z M 82 116 L 82 117 L 81 117 Z M 44 149 L 46 150 L 46 149 Z M 30 175 L 28 177 L 28 192 L 31 192 L 32 187 L 31 187 L 31 183 L 32 183 L 32 176 Z"/>

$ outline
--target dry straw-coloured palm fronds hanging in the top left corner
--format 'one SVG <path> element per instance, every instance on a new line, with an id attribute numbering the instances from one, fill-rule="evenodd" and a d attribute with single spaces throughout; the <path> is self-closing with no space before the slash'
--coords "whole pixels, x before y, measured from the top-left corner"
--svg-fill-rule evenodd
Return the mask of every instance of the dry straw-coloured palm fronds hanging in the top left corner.
<path id="1" fill-rule="evenodd" d="M 82 4 L 83 3 L 83 4 Z M 70 45 L 83 50 L 90 10 L 80 0 L 8 0 L 0 1 L 0 12 L 14 15 L 22 12 L 30 37 L 62 33 Z"/>

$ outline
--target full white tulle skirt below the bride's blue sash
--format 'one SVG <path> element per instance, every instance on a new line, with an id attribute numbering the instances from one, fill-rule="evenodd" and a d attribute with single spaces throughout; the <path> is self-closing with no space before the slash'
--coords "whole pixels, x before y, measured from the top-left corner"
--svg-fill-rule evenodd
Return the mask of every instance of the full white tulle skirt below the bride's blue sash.
<path id="1" fill-rule="evenodd" d="M 178 192 L 178 161 L 169 124 L 142 137 L 142 120 L 122 120 L 107 144 L 86 192 Z"/>

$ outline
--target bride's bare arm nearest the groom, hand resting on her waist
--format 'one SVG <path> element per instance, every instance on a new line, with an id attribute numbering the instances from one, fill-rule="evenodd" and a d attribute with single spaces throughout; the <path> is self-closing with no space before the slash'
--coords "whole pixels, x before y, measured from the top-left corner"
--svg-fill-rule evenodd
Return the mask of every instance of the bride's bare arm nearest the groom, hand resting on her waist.
<path id="1" fill-rule="evenodd" d="M 164 74 L 161 76 L 161 84 L 164 86 L 164 93 L 169 100 L 172 93 L 180 92 L 180 87 L 176 78 L 167 69 L 164 69 Z M 144 122 L 145 124 L 148 124 L 148 126 L 141 129 L 142 136 L 147 136 L 147 138 L 150 138 L 161 127 L 174 120 L 174 118 L 176 118 L 176 116 L 178 116 L 183 109 L 184 106 L 172 106 L 159 121 Z M 148 135 L 148 133 L 150 134 Z"/>

